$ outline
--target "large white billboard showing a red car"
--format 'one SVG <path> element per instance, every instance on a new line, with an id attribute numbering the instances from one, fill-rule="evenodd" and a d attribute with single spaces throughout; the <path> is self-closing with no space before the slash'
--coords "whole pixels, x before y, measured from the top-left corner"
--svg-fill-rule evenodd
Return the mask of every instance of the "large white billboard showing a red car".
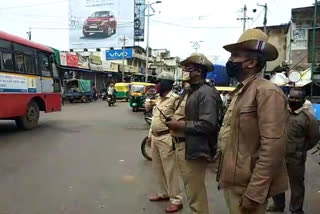
<path id="1" fill-rule="evenodd" d="M 134 45 L 135 0 L 69 0 L 71 49 Z"/>

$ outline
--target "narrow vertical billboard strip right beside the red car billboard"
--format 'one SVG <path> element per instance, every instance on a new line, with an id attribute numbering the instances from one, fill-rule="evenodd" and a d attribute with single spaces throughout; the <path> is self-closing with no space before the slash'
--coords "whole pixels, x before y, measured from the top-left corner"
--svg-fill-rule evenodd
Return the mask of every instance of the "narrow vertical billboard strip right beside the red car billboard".
<path id="1" fill-rule="evenodd" d="M 145 0 L 135 0 L 134 7 L 134 40 L 144 41 Z"/>

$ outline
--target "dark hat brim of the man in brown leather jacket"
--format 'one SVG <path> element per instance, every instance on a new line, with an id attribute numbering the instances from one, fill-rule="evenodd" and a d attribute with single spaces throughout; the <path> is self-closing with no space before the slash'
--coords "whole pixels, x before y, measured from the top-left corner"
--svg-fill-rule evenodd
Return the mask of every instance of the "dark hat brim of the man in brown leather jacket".
<path id="1" fill-rule="evenodd" d="M 258 48 L 259 40 L 247 40 L 244 42 L 234 43 L 230 45 L 225 45 L 223 48 L 226 51 L 229 51 L 230 53 L 236 52 L 236 51 L 257 51 L 262 53 L 267 61 L 274 61 L 278 58 L 279 53 L 275 46 L 268 42 L 264 42 L 263 48 Z"/>

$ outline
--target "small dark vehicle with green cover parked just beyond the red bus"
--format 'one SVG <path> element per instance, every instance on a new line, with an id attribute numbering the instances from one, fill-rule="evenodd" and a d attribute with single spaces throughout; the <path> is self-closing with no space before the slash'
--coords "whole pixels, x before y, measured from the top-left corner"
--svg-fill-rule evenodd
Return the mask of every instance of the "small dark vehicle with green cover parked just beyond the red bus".
<path id="1" fill-rule="evenodd" d="M 90 80 L 71 79 L 64 81 L 64 100 L 70 103 L 93 101 L 93 90 Z"/>

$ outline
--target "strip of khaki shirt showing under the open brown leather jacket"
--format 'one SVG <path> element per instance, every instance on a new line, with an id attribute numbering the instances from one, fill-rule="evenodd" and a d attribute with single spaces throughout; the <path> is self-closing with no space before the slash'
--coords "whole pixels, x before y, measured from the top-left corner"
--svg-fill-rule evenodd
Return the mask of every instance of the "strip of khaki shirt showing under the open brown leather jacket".
<path id="1" fill-rule="evenodd" d="M 232 118 L 232 111 L 233 111 L 234 104 L 236 103 L 236 101 L 239 97 L 239 94 L 242 92 L 242 89 L 244 88 L 244 86 L 254 77 L 255 76 L 252 76 L 252 77 L 246 79 L 245 81 L 243 81 L 242 83 L 239 83 L 237 85 L 235 91 L 233 92 L 233 97 L 232 97 L 231 103 L 230 103 L 229 108 L 227 109 L 227 112 L 223 118 L 222 126 L 221 126 L 221 129 L 219 132 L 218 151 L 223 152 L 226 145 L 231 143 L 231 118 Z"/>

